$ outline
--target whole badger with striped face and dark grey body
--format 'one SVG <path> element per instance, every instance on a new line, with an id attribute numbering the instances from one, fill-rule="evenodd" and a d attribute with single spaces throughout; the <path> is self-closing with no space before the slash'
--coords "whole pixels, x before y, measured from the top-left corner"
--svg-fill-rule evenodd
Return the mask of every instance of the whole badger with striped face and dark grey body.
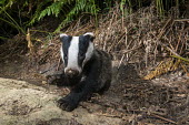
<path id="1" fill-rule="evenodd" d="M 93 40 L 91 32 L 79 37 L 60 34 L 60 55 L 64 69 L 58 76 L 59 85 L 70 86 L 70 93 L 57 101 L 63 111 L 71 112 L 92 93 L 103 93 L 110 87 L 111 56 L 94 49 Z"/>

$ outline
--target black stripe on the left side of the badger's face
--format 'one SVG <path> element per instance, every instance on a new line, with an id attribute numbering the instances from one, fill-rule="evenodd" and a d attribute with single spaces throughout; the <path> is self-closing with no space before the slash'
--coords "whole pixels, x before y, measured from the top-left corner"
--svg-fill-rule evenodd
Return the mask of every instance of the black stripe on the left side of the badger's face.
<path id="1" fill-rule="evenodd" d="M 63 49 L 62 52 L 63 52 L 64 66 L 68 65 L 68 54 L 69 54 L 68 50 L 70 48 L 71 40 L 72 40 L 72 37 L 70 35 L 60 38 L 60 41 L 62 42 L 62 49 Z"/>

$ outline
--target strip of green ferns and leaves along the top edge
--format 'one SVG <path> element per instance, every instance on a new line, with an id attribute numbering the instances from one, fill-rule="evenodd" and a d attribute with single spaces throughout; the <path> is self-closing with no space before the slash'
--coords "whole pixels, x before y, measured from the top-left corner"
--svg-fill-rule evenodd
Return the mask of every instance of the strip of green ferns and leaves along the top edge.
<path id="1" fill-rule="evenodd" d="M 153 2 L 153 1 L 152 1 Z M 172 6 L 179 7 L 185 0 L 155 0 L 157 11 L 165 15 Z M 59 32 L 66 24 L 77 20 L 81 14 L 92 15 L 98 21 L 99 13 L 106 13 L 110 8 L 120 4 L 123 13 L 131 13 L 143 6 L 150 6 L 150 0 L 1 0 L 0 1 L 0 39 L 11 38 L 18 33 L 26 34 L 32 27 L 47 17 L 54 17 Z M 127 14 L 125 14 L 127 15 Z"/>

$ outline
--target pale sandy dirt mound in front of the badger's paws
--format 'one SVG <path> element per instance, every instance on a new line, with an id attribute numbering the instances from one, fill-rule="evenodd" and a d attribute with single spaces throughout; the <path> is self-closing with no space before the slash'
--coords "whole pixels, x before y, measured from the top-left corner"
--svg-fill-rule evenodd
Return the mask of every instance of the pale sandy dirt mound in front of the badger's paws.
<path id="1" fill-rule="evenodd" d="M 53 91 L 36 86 L 24 81 L 0 77 L 0 124 L 1 125 L 80 125 L 120 124 L 120 118 L 99 116 L 78 107 L 64 112 L 57 107 L 60 97 Z M 96 105 L 93 107 L 97 108 Z"/>

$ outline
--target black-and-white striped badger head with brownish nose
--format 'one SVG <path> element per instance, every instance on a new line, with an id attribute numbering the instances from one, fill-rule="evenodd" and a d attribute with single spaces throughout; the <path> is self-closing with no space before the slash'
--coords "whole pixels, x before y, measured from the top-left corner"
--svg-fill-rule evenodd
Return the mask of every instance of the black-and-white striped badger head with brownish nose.
<path id="1" fill-rule="evenodd" d="M 64 63 L 64 73 L 69 77 L 79 76 L 84 64 L 93 54 L 93 33 L 87 32 L 79 37 L 60 34 L 60 53 Z"/>

